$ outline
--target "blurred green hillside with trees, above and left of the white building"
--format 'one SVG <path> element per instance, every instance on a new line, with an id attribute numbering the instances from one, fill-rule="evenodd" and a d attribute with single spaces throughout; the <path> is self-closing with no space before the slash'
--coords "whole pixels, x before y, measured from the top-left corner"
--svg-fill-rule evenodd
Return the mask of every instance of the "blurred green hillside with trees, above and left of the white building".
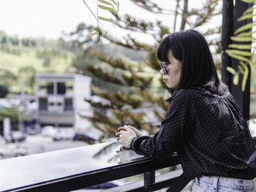
<path id="1" fill-rule="evenodd" d="M 0 31 L 1 86 L 9 93 L 34 93 L 38 72 L 69 72 L 74 53 L 62 46 L 61 40 L 18 39 Z"/>

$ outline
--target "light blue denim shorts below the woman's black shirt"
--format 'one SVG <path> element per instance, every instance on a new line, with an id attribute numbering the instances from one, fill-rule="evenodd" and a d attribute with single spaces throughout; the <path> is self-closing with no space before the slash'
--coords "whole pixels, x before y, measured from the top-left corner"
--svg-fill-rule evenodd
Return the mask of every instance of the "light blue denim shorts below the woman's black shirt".
<path id="1" fill-rule="evenodd" d="M 255 179 L 203 176 L 195 178 L 192 192 L 256 192 L 256 183 Z"/>

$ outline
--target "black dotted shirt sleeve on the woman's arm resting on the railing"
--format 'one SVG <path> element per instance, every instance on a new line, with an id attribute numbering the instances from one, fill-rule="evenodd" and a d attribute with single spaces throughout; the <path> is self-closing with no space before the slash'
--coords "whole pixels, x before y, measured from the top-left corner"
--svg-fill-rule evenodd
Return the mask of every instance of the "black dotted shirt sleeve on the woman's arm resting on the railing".
<path id="1" fill-rule="evenodd" d="M 135 137 L 130 149 L 140 155 L 148 155 L 155 161 L 170 158 L 187 142 L 194 119 L 192 109 L 192 99 L 181 91 L 176 93 L 157 134 L 153 137 Z"/>

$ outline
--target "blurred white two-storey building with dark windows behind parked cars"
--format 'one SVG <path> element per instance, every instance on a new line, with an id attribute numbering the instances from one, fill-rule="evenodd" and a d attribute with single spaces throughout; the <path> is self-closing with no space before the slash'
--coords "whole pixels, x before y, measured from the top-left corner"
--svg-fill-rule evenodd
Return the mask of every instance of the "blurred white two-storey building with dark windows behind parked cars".
<path id="1" fill-rule="evenodd" d="M 91 124 L 83 115 L 92 115 L 91 77 L 80 74 L 36 74 L 37 120 L 42 126 L 74 127 L 86 130 Z"/>

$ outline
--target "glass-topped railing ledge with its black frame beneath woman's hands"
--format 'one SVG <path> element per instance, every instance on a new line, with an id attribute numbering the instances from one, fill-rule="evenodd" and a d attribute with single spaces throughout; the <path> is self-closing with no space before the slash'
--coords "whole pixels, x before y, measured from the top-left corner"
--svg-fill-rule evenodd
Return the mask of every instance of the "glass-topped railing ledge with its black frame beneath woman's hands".
<path id="1" fill-rule="evenodd" d="M 107 142 L 1 160 L 0 191 L 69 191 L 178 164 L 120 149 Z"/>

